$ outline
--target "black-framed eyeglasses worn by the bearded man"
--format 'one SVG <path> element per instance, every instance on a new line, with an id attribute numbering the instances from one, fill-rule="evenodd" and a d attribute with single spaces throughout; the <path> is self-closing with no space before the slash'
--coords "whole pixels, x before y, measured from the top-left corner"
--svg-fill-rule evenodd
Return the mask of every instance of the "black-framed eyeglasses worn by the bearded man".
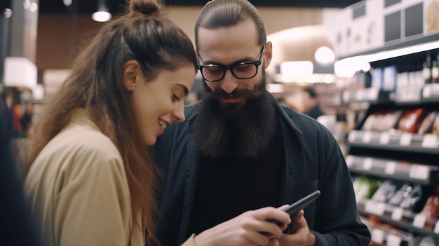
<path id="1" fill-rule="evenodd" d="M 198 64 L 198 69 L 201 71 L 201 76 L 205 81 L 217 82 L 224 78 L 226 71 L 230 70 L 231 74 L 238 79 L 253 78 L 257 74 L 257 68 L 262 62 L 262 55 L 264 55 L 265 46 L 262 47 L 261 55 L 257 61 L 236 62 L 230 66 L 223 66 L 219 64 Z"/>

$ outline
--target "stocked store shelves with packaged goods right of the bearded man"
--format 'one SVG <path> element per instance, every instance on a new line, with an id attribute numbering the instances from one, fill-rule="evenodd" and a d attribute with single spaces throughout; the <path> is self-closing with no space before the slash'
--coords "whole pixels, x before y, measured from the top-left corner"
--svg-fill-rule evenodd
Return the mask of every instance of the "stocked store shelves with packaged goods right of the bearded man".
<path id="1" fill-rule="evenodd" d="M 391 88 L 391 68 L 396 67 L 395 95 L 390 103 L 371 103 L 348 136 L 346 163 L 358 175 L 353 184 L 360 215 L 413 233 L 412 240 L 404 242 L 408 246 L 439 246 L 439 192 L 433 192 L 439 187 L 438 55 L 439 49 L 428 50 L 371 63 L 372 84 L 380 90 L 384 84 Z M 379 180 L 379 186 L 368 194 L 371 180 Z M 398 237 L 387 242 L 388 235 L 385 232 L 375 245 L 403 245 Z"/>

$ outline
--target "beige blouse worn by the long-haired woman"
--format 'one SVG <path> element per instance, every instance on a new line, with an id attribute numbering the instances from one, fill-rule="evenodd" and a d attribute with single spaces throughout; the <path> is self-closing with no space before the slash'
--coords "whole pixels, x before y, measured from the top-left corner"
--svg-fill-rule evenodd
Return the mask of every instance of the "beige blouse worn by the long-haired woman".
<path id="1" fill-rule="evenodd" d="M 44 245 L 145 245 L 144 228 L 132 226 L 121 155 L 83 109 L 41 151 L 24 185 Z M 191 245 L 194 235 L 184 242 Z"/>

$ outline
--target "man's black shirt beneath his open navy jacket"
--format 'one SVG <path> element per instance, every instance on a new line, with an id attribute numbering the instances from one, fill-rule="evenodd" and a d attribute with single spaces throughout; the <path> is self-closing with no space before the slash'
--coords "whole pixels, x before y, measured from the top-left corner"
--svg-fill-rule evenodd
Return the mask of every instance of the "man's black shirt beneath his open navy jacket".
<path id="1" fill-rule="evenodd" d="M 283 159 L 279 130 L 270 149 L 256 158 L 202 156 L 187 238 L 245 211 L 279 207 Z"/>

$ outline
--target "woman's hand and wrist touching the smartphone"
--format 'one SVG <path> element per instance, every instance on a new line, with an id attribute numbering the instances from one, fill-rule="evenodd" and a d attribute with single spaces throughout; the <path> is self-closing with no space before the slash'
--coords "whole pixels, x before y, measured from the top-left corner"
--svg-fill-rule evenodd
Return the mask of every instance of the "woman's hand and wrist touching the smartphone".
<path id="1" fill-rule="evenodd" d="M 285 207 L 285 206 L 283 206 Z M 282 231 L 291 223 L 290 216 L 274 207 L 243 212 L 228 221 L 218 224 L 196 235 L 197 246 L 204 245 L 279 245 Z M 283 224 L 278 226 L 268 219 L 276 219 Z M 306 222 L 305 222 L 306 223 Z"/>

